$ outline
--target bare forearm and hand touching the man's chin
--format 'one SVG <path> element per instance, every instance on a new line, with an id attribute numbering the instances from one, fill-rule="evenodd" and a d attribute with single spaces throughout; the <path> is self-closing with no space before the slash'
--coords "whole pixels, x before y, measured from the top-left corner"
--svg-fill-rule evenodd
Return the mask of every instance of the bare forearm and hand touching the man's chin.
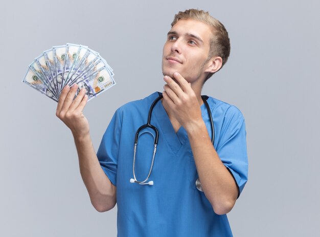
<path id="1" fill-rule="evenodd" d="M 164 86 L 163 105 L 170 120 L 176 119 L 188 133 L 205 196 L 217 214 L 227 213 L 236 202 L 237 185 L 216 153 L 202 120 L 201 90 L 196 90 L 196 94 L 192 84 L 179 73 L 175 72 L 173 76 L 176 81 L 167 75 L 164 77 L 167 84 Z M 199 89 L 196 84 L 194 87 Z"/>

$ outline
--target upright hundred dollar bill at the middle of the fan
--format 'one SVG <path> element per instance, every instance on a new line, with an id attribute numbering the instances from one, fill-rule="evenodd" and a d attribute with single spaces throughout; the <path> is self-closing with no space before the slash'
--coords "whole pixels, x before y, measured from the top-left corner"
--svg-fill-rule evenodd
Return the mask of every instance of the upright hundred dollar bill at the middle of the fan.
<path id="1" fill-rule="evenodd" d="M 53 58 L 56 66 L 56 78 L 58 91 L 62 89 L 62 77 L 65 57 L 65 45 L 52 47 Z"/>

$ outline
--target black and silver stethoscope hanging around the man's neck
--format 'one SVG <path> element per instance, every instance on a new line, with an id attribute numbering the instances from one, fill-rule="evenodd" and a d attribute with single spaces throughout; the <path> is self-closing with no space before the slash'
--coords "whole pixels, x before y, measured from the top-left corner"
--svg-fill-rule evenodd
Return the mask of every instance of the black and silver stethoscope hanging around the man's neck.
<path id="1" fill-rule="evenodd" d="M 154 156 L 155 156 L 155 152 L 156 152 L 156 145 L 158 143 L 158 138 L 159 138 L 159 133 L 158 133 L 158 130 L 155 126 L 153 126 L 150 121 L 151 121 L 151 115 L 152 115 L 152 110 L 155 106 L 155 104 L 161 100 L 163 98 L 162 94 L 158 96 L 158 98 L 156 98 L 153 103 L 151 104 L 150 106 L 150 110 L 149 110 L 149 115 L 148 115 L 148 122 L 144 125 L 142 125 L 141 127 L 138 128 L 138 130 L 136 131 L 135 133 L 135 140 L 134 140 L 134 154 L 133 154 L 133 179 L 131 178 L 130 179 L 130 183 L 139 183 L 139 184 L 142 184 L 142 185 L 145 185 L 145 184 L 148 184 L 148 185 L 153 185 L 153 181 L 149 180 L 149 177 L 151 175 L 151 171 L 152 171 L 152 167 L 153 167 L 153 162 L 154 162 Z M 213 120 L 212 120 L 212 115 L 211 115 L 211 111 L 210 111 L 210 107 L 209 107 L 209 104 L 207 102 L 207 99 L 208 99 L 208 96 L 201 96 L 202 100 L 203 100 L 203 103 L 205 104 L 205 107 L 207 107 L 207 112 L 208 112 L 208 115 L 210 117 L 210 123 L 211 123 L 211 141 L 212 141 L 212 144 L 214 144 L 214 125 L 213 125 Z M 144 128 L 151 128 L 155 135 L 149 131 L 145 131 L 145 132 L 142 132 L 140 133 L 141 130 L 143 130 Z M 140 134 L 139 134 L 140 133 Z M 154 139 L 154 149 L 153 149 L 153 156 L 152 156 L 152 161 L 151 161 L 151 166 L 150 166 L 150 169 L 149 169 L 149 173 L 148 173 L 148 176 L 145 180 L 143 181 L 138 181 L 136 180 L 135 178 L 135 171 L 134 171 L 134 165 L 135 165 L 135 153 L 136 153 L 136 146 L 138 145 L 138 141 L 139 141 L 139 137 L 142 135 L 142 134 L 145 134 L 145 133 L 149 133 L 153 136 L 153 139 Z M 147 182 L 148 181 L 148 182 Z M 201 183 L 200 183 L 200 180 L 199 178 L 196 180 L 196 187 L 199 191 L 202 191 L 202 186 L 201 186 Z"/>

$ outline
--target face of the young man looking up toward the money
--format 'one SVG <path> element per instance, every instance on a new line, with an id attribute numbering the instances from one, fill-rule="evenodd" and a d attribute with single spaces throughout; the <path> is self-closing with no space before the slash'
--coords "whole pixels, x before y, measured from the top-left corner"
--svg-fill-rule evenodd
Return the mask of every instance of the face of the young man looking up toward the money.
<path id="1" fill-rule="evenodd" d="M 188 82 L 204 79 L 210 50 L 211 29 L 202 21 L 180 19 L 168 33 L 163 49 L 162 73 L 180 73 Z"/>

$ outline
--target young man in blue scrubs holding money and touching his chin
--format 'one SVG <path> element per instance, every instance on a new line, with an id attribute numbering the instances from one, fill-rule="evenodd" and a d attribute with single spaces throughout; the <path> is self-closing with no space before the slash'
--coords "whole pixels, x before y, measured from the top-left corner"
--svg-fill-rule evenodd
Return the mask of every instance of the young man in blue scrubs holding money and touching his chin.
<path id="1" fill-rule="evenodd" d="M 74 135 L 93 206 L 102 212 L 117 202 L 119 236 L 232 236 L 225 214 L 247 181 L 244 119 L 235 106 L 208 97 L 207 108 L 201 98 L 205 80 L 229 54 L 227 32 L 208 12 L 175 15 L 163 49 L 163 98 L 151 113 L 155 156 L 154 131 L 139 133 L 136 150 L 134 135 L 160 93 L 120 107 L 96 156 L 82 114 L 85 91 L 73 100 L 77 85 L 63 89 L 57 116 Z"/>

